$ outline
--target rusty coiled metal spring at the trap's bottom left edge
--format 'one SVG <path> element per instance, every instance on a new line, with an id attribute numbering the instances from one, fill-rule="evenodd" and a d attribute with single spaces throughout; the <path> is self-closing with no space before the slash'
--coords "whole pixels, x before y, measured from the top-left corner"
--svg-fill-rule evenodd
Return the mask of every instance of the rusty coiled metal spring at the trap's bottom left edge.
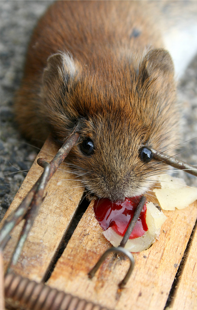
<path id="1" fill-rule="evenodd" d="M 5 276 L 5 300 L 25 310 L 107 310 L 85 299 L 74 297 L 27 278 L 8 273 Z"/>

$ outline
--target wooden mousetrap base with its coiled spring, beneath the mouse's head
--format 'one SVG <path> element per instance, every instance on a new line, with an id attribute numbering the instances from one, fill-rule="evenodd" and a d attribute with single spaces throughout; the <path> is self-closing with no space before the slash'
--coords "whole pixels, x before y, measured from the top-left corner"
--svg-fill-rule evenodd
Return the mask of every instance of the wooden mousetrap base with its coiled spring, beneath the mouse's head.
<path id="1" fill-rule="evenodd" d="M 50 162 L 57 151 L 48 138 L 37 158 Z M 131 264 L 122 254 L 107 255 L 95 275 L 88 277 L 111 244 L 94 216 L 94 201 L 84 206 L 84 187 L 65 163 L 60 168 L 46 186 L 45 199 L 15 265 L 10 266 L 10 259 L 24 219 L 10 233 L 3 251 L 4 270 L 11 268 L 4 280 L 6 309 L 197 309 L 197 202 L 182 210 L 163 211 L 167 220 L 160 240 L 148 250 L 133 253 L 135 266 L 120 287 Z M 5 219 L 42 172 L 36 159 Z M 69 227 L 79 215 L 70 237 Z"/>

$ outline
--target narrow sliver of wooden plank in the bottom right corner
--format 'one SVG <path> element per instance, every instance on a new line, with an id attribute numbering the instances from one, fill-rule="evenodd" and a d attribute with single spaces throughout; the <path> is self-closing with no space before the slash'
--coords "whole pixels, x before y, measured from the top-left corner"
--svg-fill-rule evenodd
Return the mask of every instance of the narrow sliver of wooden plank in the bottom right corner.
<path id="1" fill-rule="evenodd" d="M 197 309 L 197 226 L 168 310 Z"/>

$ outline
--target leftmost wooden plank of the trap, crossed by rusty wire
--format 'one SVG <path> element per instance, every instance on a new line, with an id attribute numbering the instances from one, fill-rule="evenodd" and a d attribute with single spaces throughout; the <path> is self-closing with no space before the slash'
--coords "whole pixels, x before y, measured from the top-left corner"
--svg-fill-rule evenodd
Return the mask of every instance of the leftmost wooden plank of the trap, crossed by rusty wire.
<path id="1" fill-rule="evenodd" d="M 48 138 L 37 158 L 42 157 L 51 161 L 57 151 L 58 148 Z M 83 187 L 78 187 L 81 186 L 81 183 L 74 180 L 73 174 L 66 172 L 69 170 L 66 164 L 63 163 L 60 167 L 63 171 L 58 170 L 46 187 L 45 200 L 14 268 L 15 273 L 38 282 L 42 281 L 47 274 L 84 192 Z M 42 171 L 43 169 L 38 166 L 35 160 L 6 212 L 5 218 L 19 205 Z M 65 179 L 71 179 L 71 181 Z M 21 227 L 22 223 L 14 228 L 11 240 L 3 252 L 5 268 L 13 253 Z"/>

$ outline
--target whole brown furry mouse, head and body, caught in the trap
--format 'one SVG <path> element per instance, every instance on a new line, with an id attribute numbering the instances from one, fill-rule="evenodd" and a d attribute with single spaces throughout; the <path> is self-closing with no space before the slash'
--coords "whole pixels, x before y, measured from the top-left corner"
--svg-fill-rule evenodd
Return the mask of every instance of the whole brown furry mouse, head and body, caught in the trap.
<path id="1" fill-rule="evenodd" d="M 28 139 L 62 144 L 80 121 L 68 161 L 90 194 L 145 193 L 178 140 L 173 62 L 143 1 L 57 1 L 38 22 L 16 95 Z"/>

